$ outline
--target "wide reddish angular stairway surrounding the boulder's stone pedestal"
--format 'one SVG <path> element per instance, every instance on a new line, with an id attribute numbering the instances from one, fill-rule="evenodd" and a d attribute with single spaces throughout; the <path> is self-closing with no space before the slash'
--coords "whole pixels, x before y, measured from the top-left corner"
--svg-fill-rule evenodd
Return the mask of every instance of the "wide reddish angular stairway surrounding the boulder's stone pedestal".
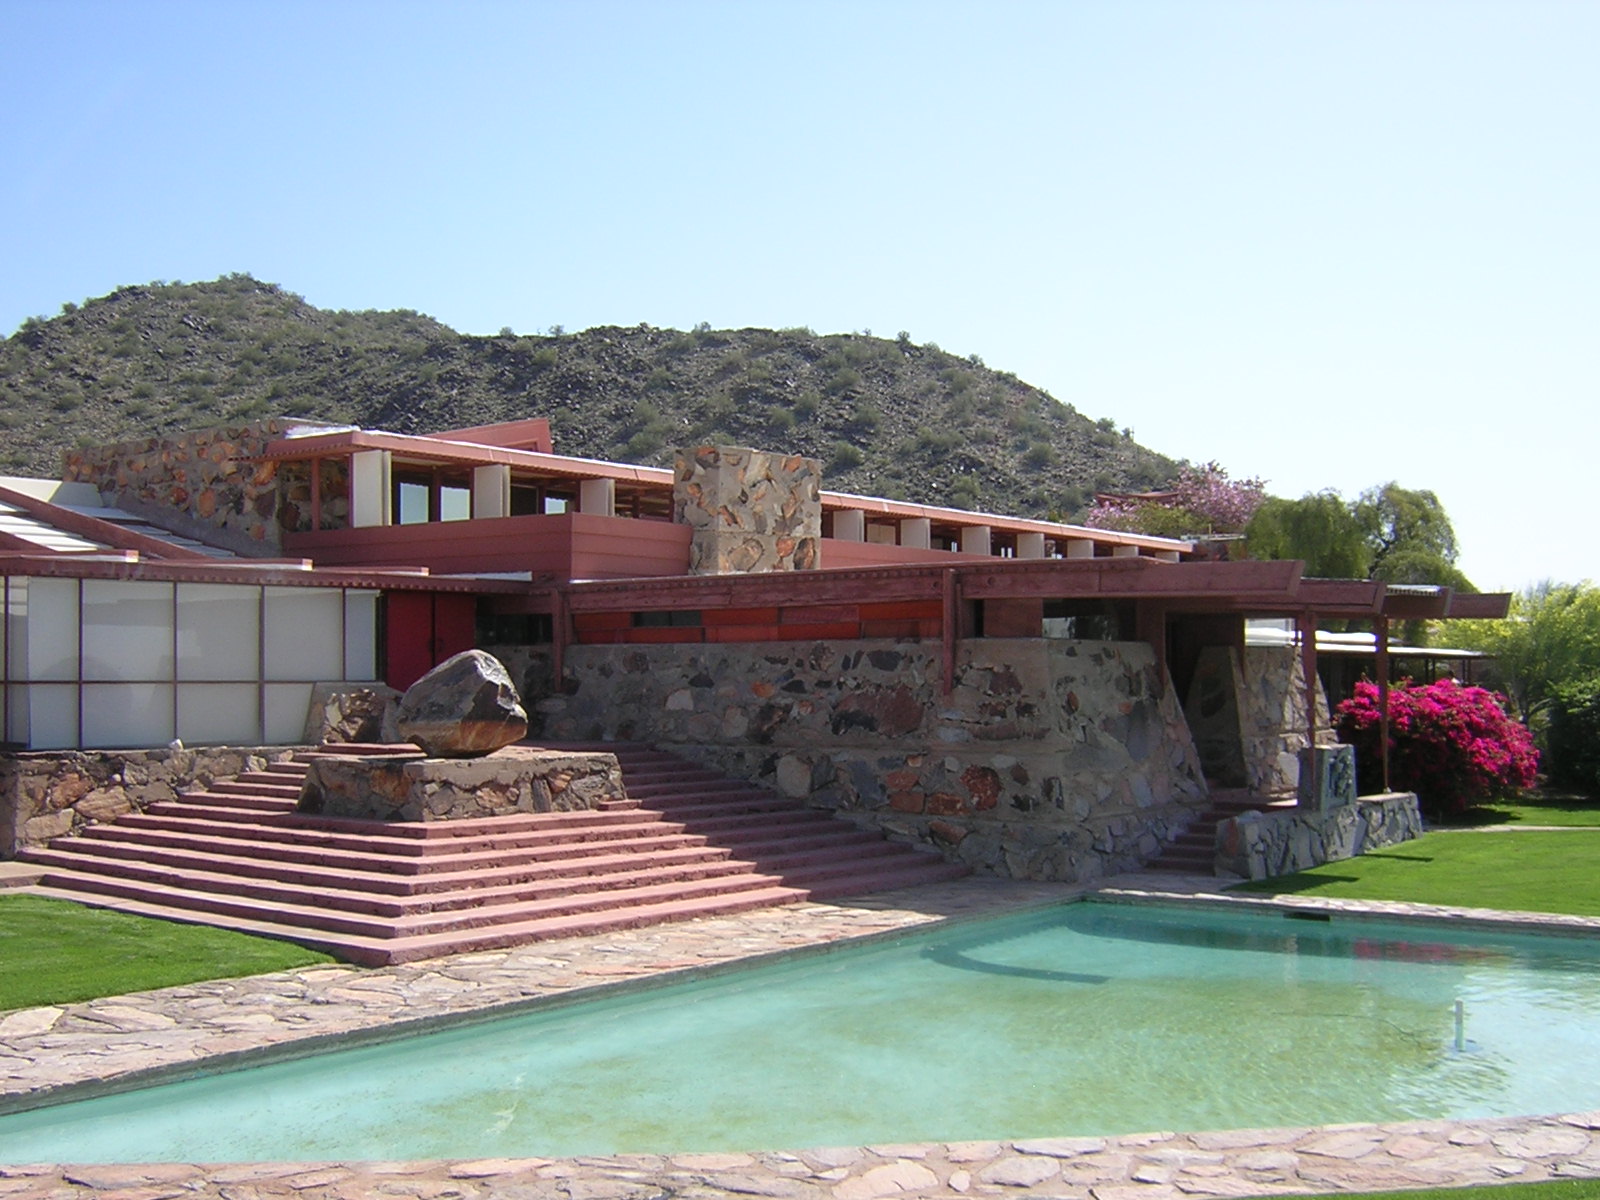
<path id="1" fill-rule="evenodd" d="M 382 965 L 965 875 L 683 758 L 618 755 L 629 800 L 594 811 L 362 821 L 294 811 L 322 747 L 21 854 L 50 896 L 219 925 Z"/>

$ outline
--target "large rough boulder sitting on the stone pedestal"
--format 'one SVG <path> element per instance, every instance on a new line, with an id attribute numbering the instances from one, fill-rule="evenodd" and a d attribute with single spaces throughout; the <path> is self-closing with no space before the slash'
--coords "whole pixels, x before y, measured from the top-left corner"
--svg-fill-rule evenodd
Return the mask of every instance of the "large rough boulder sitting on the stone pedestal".
<path id="1" fill-rule="evenodd" d="M 406 690 L 395 731 L 432 758 L 477 758 L 525 738 L 528 714 L 499 659 L 464 650 Z"/>

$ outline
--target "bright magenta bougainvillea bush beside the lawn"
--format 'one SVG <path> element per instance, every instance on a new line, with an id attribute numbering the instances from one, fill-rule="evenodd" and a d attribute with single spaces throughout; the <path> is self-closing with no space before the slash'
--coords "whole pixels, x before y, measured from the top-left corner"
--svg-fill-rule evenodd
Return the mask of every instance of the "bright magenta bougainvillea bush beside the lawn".
<path id="1" fill-rule="evenodd" d="M 1362 792 L 1382 787 L 1378 685 L 1357 683 L 1339 706 L 1339 739 L 1355 746 Z M 1389 782 L 1416 792 L 1434 814 L 1461 813 L 1478 800 L 1531 787 L 1539 752 L 1499 696 L 1445 678 L 1426 688 L 1389 688 Z"/>

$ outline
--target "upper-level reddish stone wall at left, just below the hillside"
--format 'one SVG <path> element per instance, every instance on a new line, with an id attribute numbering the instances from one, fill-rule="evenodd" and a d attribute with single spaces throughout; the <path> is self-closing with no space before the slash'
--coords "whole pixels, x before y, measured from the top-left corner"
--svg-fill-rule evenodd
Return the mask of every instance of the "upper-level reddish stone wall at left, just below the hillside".
<path id="1" fill-rule="evenodd" d="M 280 494 L 278 464 L 245 459 L 261 454 L 291 426 L 307 424 L 315 422 L 270 418 L 69 450 L 62 478 L 93 483 L 122 507 L 174 533 L 270 557 L 282 546 L 283 528 L 309 528 L 310 480 L 301 469 L 299 477 L 285 478 Z M 338 470 L 325 474 L 323 483 L 326 523 L 347 501 Z"/>

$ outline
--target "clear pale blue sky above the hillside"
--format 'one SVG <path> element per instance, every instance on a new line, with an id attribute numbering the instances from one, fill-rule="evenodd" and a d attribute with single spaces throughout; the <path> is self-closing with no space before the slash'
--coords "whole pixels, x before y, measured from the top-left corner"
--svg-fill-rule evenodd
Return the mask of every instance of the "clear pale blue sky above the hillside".
<path id="1" fill-rule="evenodd" d="M 907 330 L 1600 579 L 1600 3 L 0 0 L 0 331 L 243 270 L 464 333 Z"/>

